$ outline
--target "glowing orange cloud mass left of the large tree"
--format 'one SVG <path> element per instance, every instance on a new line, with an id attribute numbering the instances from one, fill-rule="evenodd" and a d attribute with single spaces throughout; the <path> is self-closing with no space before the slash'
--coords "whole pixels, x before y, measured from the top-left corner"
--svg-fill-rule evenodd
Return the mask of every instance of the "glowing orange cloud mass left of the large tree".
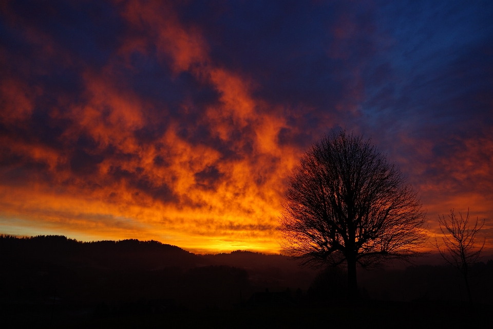
<path id="1" fill-rule="evenodd" d="M 145 108 L 153 105 L 117 88 L 109 63 L 100 75 L 84 74 L 84 103 L 52 112 L 72 122 L 60 137 L 63 142 L 89 140 L 80 157 L 70 149 L 57 153 L 22 142 L 12 148 L 48 163 L 52 177 L 49 184 L 4 188 L 4 216 L 82 239 L 138 237 L 197 250 L 277 251 L 283 177 L 300 152 L 277 142 L 285 121 L 266 111 L 269 104 L 252 98 L 248 81 L 212 65 L 197 30 L 180 26 L 169 7 L 130 2 L 123 15 L 136 28 L 150 29 L 153 39 L 131 39 L 118 52 L 142 51 L 150 42 L 162 60 L 172 62 L 175 74 L 189 71 L 211 83 L 219 103 L 204 109 L 202 120 L 237 156 L 223 159 L 211 146 L 187 142 L 179 136 L 179 122 L 169 122 L 153 143 L 138 141 L 135 132 L 149 124 Z M 16 115 L 29 104 L 17 97 Z M 110 154 L 85 163 L 108 148 Z M 166 164 L 156 166 L 157 158 Z M 207 181 L 207 174 L 217 177 Z"/>

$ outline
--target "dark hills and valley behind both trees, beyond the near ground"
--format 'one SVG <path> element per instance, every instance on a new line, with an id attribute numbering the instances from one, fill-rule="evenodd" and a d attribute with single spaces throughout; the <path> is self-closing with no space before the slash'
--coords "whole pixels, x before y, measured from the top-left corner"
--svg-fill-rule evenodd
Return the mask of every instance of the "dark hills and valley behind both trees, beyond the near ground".
<path id="1" fill-rule="evenodd" d="M 237 250 L 197 255 L 158 241 L 79 242 L 60 235 L 0 235 L 0 251 L 0 287 L 9 300 L 48 298 L 58 289 L 60 298 L 72 302 L 166 298 L 189 307 L 225 307 L 265 288 L 307 291 L 312 286 L 312 294 L 324 298 L 345 291 L 340 270 L 322 270 L 316 277 L 318 271 L 278 254 Z M 489 302 L 493 261 L 474 268 L 473 293 L 478 301 Z M 463 294 L 460 278 L 447 266 L 358 270 L 358 276 L 368 298 L 460 300 Z"/>

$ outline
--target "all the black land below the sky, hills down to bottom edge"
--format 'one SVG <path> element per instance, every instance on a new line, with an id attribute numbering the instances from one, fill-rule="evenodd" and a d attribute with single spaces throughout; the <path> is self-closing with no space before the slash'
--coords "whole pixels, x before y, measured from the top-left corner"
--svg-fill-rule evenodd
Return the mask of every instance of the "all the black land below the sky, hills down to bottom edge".
<path id="1" fill-rule="evenodd" d="M 299 268 L 254 252 L 198 255 L 158 242 L 81 243 L 0 235 L 2 328 L 493 327 L 493 261 L 472 266 L 473 303 L 457 270 L 419 265 Z"/>

